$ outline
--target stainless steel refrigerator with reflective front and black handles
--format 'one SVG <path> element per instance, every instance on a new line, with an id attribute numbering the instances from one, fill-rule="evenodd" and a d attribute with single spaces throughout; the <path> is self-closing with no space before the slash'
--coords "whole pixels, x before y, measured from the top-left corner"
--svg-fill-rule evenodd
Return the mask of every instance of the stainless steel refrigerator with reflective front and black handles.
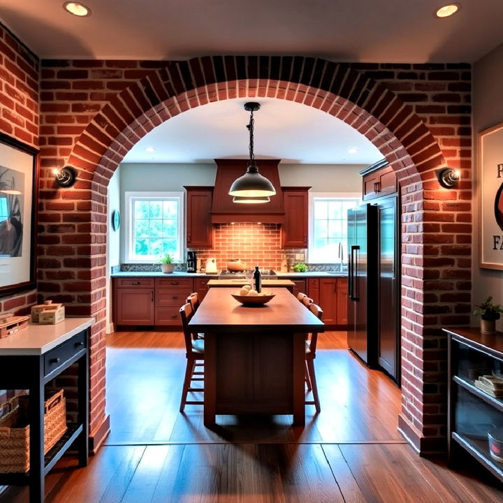
<path id="1" fill-rule="evenodd" d="M 349 349 L 367 365 L 377 365 L 378 210 L 365 204 L 348 210 Z"/>

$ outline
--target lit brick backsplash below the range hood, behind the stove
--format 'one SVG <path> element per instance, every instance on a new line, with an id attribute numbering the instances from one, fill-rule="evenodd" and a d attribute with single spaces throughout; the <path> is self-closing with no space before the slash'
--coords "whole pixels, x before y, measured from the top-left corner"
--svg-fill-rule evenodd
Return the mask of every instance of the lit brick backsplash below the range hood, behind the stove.
<path id="1" fill-rule="evenodd" d="M 214 226 L 212 249 L 196 249 L 198 258 L 217 258 L 217 267 L 226 269 L 232 258 L 240 258 L 247 268 L 279 270 L 284 251 L 278 224 L 217 224 Z"/>

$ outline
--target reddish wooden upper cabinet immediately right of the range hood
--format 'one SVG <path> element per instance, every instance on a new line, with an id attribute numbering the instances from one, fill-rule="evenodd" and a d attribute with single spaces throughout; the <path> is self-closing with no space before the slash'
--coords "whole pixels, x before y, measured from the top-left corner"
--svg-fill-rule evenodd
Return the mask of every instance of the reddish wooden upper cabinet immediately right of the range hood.
<path id="1" fill-rule="evenodd" d="M 311 187 L 282 187 L 284 224 L 283 248 L 307 248 L 308 191 Z"/>

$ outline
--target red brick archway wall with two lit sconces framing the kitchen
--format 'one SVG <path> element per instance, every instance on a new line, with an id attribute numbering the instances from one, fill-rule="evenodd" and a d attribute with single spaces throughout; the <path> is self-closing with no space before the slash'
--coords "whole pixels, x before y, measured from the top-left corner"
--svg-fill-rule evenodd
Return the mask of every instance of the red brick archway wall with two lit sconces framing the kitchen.
<path id="1" fill-rule="evenodd" d="M 152 68 L 152 69 L 150 69 Z M 104 414 L 106 186 L 147 131 L 209 101 L 261 96 L 305 103 L 376 145 L 402 186 L 402 430 L 424 450 L 445 435 L 443 324 L 469 321 L 470 68 L 335 64 L 302 57 L 204 57 L 182 62 L 44 61 L 41 81 L 40 291 L 98 319 L 92 421 Z M 57 190 L 48 169 L 80 170 Z M 437 173 L 460 168 L 453 190 Z M 240 257 L 241 258 L 241 257 Z M 61 278 L 57 282 L 56 278 Z M 417 443 L 416 442 L 416 443 Z"/>

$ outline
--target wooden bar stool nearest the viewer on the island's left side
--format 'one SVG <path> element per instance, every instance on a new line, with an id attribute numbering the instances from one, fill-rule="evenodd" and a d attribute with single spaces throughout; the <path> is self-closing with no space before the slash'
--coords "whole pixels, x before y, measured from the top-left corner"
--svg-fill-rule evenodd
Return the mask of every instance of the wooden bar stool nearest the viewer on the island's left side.
<path id="1" fill-rule="evenodd" d="M 187 400 L 189 391 L 204 393 L 204 372 L 196 372 L 198 360 L 204 362 L 204 340 L 194 339 L 189 328 L 189 321 L 194 316 L 194 309 L 190 302 L 180 307 L 180 318 L 182 319 L 182 330 L 185 341 L 185 357 L 187 358 L 187 367 L 185 368 L 184 384 L 182 388 L 182 400 L 180 400 L 180 412 L 183 412 L 185 405 L 203 405 L 202 400 Z M 191 388 L 192 381 L 203 381 L 203 388 Z"/>

